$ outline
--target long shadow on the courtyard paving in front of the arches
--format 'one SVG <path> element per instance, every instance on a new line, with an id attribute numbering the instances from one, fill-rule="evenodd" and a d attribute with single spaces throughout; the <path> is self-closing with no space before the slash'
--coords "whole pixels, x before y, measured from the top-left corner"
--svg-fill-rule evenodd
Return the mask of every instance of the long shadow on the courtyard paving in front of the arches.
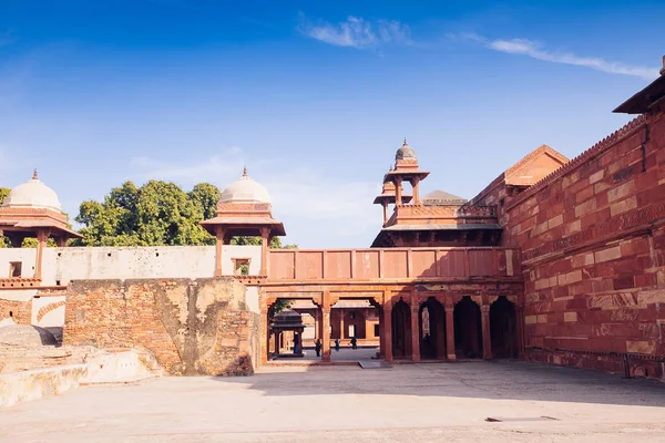
<path id="1" fill-rule="evenodd" d="M 515 360 L 359 367 L 267 368 L 248 378 L 264 395 L 372 394 L 665 406 L 665 383 Z"/>

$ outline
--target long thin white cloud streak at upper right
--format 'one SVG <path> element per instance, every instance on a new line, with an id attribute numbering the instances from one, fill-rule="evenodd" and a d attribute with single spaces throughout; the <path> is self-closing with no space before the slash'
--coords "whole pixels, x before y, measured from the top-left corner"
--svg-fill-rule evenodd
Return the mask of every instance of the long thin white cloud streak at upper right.
<path id="1" fill-rule="evenodd" d="M 647 80 L 653 80 L 658 76 L 658 69 L 656 68 L 634 66 L 624 63 L 610 62 L 595 56 L 579 56 L 570 52 L 550 51 L 544 49 L 541 43 L 528 39 L 492 40 L 474 33 L 450 34 L 449 37 L 453 39 L 473 41 L 493 51 L 526 55 L 545 62 L 591 68 L 608 74 L 633 75 Z"/>

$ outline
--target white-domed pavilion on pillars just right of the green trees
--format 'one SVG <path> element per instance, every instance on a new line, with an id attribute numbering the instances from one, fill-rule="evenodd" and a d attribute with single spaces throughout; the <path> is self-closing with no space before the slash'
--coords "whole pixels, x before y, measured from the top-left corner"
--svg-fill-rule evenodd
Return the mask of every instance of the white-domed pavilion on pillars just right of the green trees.
<path id="1" fill-rule="evenodd" d="M 273 218 L 273 204 L 268 190 L 247 175 L 228 185 L 217 202 L 215 218 L 201 222 L 217 238 L 215 277 L 222 277 L 222 246 L 233 237 L 260 237 L 260 275 L 267 275 L 268 245 L 273 237 L 285 236 L 284 225 Z"/>

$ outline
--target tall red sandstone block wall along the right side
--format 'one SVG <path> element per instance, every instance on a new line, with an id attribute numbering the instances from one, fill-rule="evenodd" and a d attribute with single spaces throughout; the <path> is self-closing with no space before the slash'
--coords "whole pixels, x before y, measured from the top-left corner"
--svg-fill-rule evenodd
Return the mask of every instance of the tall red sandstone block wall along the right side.
<path id="1" fill-rule="evenodd" d="M 505 205 L 526 358 L 663 378 L 665 115 L 640 117 Z M 618 354 L 615 354 L 618 353 Z"/>

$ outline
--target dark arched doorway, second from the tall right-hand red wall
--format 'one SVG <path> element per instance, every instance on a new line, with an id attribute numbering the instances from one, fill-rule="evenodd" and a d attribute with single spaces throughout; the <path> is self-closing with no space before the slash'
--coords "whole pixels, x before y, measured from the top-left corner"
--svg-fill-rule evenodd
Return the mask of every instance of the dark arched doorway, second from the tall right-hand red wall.
<path id="1" fill-rule="evenodd" d="M 482 358 L 482 320 L 480 307 L 466 296 L 456 305 L 454 319 L 454 351 L 464 359 Z"/>

